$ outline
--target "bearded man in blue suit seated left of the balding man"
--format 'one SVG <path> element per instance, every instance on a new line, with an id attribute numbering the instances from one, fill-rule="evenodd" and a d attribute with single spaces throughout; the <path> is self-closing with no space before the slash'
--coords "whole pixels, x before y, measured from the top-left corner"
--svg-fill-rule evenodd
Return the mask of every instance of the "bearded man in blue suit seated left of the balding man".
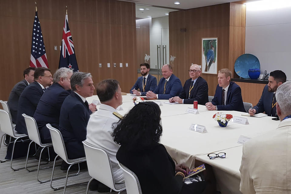
<path id="1" fill-rule="evenodd" d="M 130 94 L 136 94 L 137 96 L 145 96 L 147 91 L 153 91 L 157 87 L 157 78 L 149 74 L 149 64 L 140 64 L 141 77 L 137 78 L 137 81 L 130 89 Z M 137 90 L 140 90 L 137 91 Z"/>

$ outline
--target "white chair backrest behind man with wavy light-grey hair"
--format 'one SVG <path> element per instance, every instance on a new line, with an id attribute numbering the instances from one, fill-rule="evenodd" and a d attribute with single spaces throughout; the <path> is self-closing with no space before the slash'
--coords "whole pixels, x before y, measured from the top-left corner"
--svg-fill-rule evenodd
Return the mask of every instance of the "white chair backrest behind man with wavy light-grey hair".
<path id="1" fill-rule="evenodd" d="M 25 113 L 23 113 L 22 116 L 24 117 L 24 120 L 25 120 L 29 139 L 37 143 L 39 146 L 42 146 L 42 143 L 40 141 L 40 135 L 38 132 L 37 123 L 35 119 L 33 117 L 26 115 Z"/>

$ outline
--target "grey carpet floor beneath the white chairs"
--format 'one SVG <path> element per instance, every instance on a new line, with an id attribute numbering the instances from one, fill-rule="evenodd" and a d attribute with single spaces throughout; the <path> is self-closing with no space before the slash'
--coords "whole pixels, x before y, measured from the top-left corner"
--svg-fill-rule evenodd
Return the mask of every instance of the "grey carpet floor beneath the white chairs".
<path id="1" fill-rule="evenodd" d="M 0 135 L 2 136 L 3 133 L 0 131 Z M 0 136 L 0 137 L 1 137 Z M 3 160 L 6 155 L 7 147 L 1 142 L 1 149 L 0 149 L 0 159 Z M 61 164 L 62 159 L 57 161 L 57 164 Z M 35 172 L 28 172 L 25 169 L 13 171 L 10 168 L 11 161 L 6 161 L 0 164 L 0 193 L 1 194 L 60 194 L 63 193 L 63 189 L 54 191 L 50 188 L 50 182 L 46 183 L 39 183 L 36 179 L 36 171 Z M 28 165 L 38 164 L 38 160 L 34 157 L 28 159 Z M 52 166 L 53 162 L 49 163 L 47 166 Z M 13 167 L 24 167 L 25 166 L 25 159 L 16 159 L 13 160 Z M 77 171 L 70 171 L 72 173 Z M 39 179 L 50 179 L 52 175 L 52 168 L 42 169 L 39 171 Z M 60 170 L 60 167 L 57 166 L 55 168 L 54 177 L 57 176 L 65 176 L 66 171 Z M 68 185 L 78 183 L 78 182 L 85 182 L 89 181 L 91 177 L 87 170 L 82 170 L 78 176 L 69 177 L 68 178 Z M 64 186 L 65 179 L 56 180 L 53 182 L 54 187 Z M 66 189 L 67 194 L 85 194 L 87 188 L 87 184 L 74 186 Z M 89 191 L 89 194 L 99 194 L 97 191 Z M 112 192 L 117 194 L 117 192 Z M 125 194 L 126 192 L 122 192 Z M 103 193 L 108 194 L 108 192 Z"/>

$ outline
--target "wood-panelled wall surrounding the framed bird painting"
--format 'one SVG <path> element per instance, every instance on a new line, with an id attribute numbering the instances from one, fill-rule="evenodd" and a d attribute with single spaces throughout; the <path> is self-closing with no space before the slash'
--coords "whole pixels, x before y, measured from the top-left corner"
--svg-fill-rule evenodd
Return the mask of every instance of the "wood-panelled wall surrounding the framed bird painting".
<path id="1" fill-rule="evenodd" d="M 202 63 L 202 38 L 218 38 L 218 70 L 229 68 L 234 77 L 234 61 L 245 48 L 245 5 L 226 3 L 169 13 L 170 55 L 176 56 L 174 73 L 182 83 L 189 78 L 191 64 Z M 186 32 L 179 32 L 186 28 Z M 185 37 L 185 38 L 183 38 Z M 217 75 L 201 74 L 213 96 Z"/>

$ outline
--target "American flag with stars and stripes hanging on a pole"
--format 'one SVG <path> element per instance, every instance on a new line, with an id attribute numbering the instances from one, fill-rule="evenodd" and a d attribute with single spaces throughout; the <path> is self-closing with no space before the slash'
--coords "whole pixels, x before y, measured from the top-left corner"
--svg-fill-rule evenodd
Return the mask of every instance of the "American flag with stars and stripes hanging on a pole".
<path id="1" fill-rule="evenodd" d="M 32 29 L 30 67 L 49 68 L 48 59 L 45 53 L 45 43 L 43 42 L 42 29 L 40 27 L 37 12 L 35 12 Z"/>

